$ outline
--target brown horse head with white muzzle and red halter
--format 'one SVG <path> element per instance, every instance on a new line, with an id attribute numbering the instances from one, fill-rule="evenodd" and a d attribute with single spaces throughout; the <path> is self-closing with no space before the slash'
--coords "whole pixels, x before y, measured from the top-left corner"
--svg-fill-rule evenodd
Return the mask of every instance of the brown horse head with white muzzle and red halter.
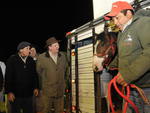
<path id="1" fill-rule="evenodd" d="M 97 35 L 93 56 L 93 70 L 95 72 L 101 71 L 112 61 L 117 48 L 116 39 L 117 35 L 114 32 L 102 32 Z"/>

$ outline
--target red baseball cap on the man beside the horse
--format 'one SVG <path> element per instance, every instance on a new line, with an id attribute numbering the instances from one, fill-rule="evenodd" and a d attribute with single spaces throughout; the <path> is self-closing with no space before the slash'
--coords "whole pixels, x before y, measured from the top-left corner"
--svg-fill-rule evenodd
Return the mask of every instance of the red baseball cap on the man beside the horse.
<path id="1" fill-rule="evenodd" d="M 111 11 L 105 15 L 104 19 L 108 20 L 109 17 L 116 16 L 120 11 L 125 9 L 133 9 L 133 7 L 125 1 L 117 1 L 112 4 Z"/>

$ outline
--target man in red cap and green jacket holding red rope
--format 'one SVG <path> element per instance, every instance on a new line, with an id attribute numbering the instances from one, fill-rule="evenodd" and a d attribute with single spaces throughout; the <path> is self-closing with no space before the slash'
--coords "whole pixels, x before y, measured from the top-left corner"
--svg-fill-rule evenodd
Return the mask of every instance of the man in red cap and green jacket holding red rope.
<path id="1" fill-rule="evenodd" d="M 113 3 L 111 11 L 104 18 L 112 19 L 120 29 L 118 55 L 110 64 L 110 68 L 118 67 L 117 83 L 123 86 L 135 84 L 150 99 L 150 18 L 135 16 L 133 7 L 125 1 Z M 150 112 L 150 107 L 135 90 L 131 90 L 131 99 L 139 108 L 139 113 Z M 127 113 L 133 112 L 129 107 Z"/>

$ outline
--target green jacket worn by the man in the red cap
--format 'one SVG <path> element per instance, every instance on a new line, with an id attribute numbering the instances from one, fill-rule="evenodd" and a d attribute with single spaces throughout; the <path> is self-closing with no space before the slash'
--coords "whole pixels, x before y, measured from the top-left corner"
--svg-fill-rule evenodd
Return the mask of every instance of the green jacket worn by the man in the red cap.
<path id="1" fill-rule="evenodd" d="M 150 17 L 134 17 L 119 33 L 117 44 L 118 55 L 111 66 L 118 64 L 127 83 L 150 87 Z"/>

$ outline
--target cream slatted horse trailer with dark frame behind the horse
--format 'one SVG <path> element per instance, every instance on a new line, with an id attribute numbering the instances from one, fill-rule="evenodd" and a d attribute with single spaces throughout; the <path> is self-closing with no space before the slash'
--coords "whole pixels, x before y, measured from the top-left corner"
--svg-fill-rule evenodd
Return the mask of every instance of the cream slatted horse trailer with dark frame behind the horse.
<path id="1" fill-rule="evenodd" d="M 150 8 L 150 0 L 136 0 L 131 4 L 136 10 L 141 8 L 149 10 Z M 104 31 L 106 24 L 103 19 L 104 15 L 66 34 L 70 65 L 68 102 L 70 113 L 106 113 L 109 111 L 107 101 L 103 101 L 102 98 L 107 96 L 107 83 L 111 75 L 106 71 L 99 73 L 93 70 L 93 57 L 97 47 L 96 37 Z M 107 78 L 102 78 L 102 74 Z"/>

